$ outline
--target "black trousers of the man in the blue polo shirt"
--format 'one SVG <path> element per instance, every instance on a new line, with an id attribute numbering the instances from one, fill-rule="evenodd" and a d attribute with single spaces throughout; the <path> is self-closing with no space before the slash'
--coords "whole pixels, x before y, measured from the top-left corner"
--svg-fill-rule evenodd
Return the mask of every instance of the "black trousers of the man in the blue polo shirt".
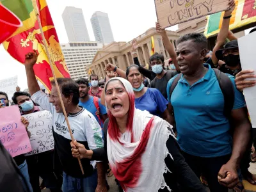
<path id="1" fill-rule="evenodd" d="M 225 188 L 218 182 L 218 173 L 220 172 L 221 166 L 226 164 L 230 159 L 230 155 L 221 157 L 197 157 L 191 156 L 186 152 L 182 152 L 186 163 L 190 166 L 193 172 L 198 178 L 204 174 L 206 177 L 208 186 L 211 192 L 227 192 L 228 188 Z"/>

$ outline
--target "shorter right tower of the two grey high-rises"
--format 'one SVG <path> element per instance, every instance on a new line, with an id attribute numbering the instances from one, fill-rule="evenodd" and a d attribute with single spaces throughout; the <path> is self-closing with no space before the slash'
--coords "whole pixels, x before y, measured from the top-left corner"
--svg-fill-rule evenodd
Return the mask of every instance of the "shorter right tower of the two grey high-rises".
<path id="1" fill-rule="evenodd" d="M 110 44 L 114 41 L 108 13 L 95 12 L 91 18 L 95 40 L 102 44 Z"/>

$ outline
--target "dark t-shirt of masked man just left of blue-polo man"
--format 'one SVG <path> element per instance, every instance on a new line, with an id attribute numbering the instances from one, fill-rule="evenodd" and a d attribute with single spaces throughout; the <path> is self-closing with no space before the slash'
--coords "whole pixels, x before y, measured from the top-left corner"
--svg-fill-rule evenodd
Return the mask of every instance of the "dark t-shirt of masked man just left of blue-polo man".
<path id="1" fill-rule="evenodd" d="M 162 93 L 165 99 L 167 99 L 167 84 L 172 77 L 176 76 L 178 72 L 176 70 L 167 70 L 166 74 L 162 77 L 162 79 L 157 79 L 157 77 L 151 81 L 150 88 L 156 88 L 159 92 Z"/>

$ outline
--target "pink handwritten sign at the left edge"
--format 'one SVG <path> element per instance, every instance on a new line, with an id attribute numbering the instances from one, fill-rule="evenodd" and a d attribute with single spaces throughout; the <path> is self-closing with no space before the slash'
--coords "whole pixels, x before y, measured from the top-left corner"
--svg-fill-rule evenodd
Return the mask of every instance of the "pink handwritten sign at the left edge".
<path id="1" fill-rule="evenodd" d="M 0 109 L 0 142 L 12 157 L 31 151 L 28 133 L 20 122 L 18 106 Z"/>

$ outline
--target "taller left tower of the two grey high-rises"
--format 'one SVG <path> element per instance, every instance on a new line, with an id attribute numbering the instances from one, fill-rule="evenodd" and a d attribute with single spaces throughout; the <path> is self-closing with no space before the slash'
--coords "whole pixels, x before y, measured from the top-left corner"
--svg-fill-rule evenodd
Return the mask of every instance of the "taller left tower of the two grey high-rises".
<path id="1" fill-rule="evenodd" d="M 67 6 L 62 13 L 62 19 L 69 42 L 90 42 L 82 9 Z"/>

